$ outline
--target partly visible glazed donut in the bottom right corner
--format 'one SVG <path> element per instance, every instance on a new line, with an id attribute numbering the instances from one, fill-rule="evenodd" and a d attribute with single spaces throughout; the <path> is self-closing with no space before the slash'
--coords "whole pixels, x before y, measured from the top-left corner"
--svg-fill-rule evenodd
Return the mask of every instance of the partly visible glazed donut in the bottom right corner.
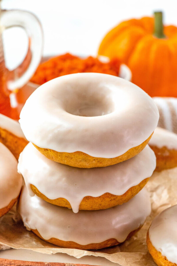
<path id="1" fill-rule="evenodd" d="M 177 265 L 177 205 L 155 217 L 148 230 L 147 245 L 157 265 Z"/>

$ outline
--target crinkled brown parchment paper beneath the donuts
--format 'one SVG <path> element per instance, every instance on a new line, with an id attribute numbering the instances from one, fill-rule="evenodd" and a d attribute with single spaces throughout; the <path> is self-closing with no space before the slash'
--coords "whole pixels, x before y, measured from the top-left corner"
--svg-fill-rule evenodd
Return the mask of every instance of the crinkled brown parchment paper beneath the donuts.
<path id="1" fill-rule="evenodd" d="M 177 168 L 153 173 L 146 188 L 150 192 L 152 201 L 151 215 L 135 236 L 119 246 L 98 251 L 57 247 L 41 240 L 31 231 L 27 231 L 14 209 L 0 219 L 0 244 L 3 247 L 5 245 L 15 249 L 31 249 L 46 254 L 61 252 L 76 258 L 86 255 L 100 256 L 123 266 L 155 266 L 146 246 L 146 233 L 152 219 L 158 213 L 177 204 Z"/>

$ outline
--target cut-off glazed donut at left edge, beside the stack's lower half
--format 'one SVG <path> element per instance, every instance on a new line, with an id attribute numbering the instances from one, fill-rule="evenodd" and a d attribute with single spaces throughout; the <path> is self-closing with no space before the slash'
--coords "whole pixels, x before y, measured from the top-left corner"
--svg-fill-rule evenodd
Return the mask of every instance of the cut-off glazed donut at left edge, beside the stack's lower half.
<path id="1" fill-rule="evenodd" d="M 17 172 L 17 160 L 10 150 L 0 143 L 0 217 L 17 201 L 22 176 Z"/>

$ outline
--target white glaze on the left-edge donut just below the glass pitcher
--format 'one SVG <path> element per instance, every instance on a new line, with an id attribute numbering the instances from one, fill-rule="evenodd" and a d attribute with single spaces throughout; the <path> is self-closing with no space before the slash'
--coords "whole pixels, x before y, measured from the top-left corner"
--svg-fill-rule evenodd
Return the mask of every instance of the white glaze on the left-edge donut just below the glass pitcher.
<path id="1" fill-rule="evenodd" d="M 0 113 L 0 127 L 6 129 L 17 137 L 25 138 L 19 122 Z"/>

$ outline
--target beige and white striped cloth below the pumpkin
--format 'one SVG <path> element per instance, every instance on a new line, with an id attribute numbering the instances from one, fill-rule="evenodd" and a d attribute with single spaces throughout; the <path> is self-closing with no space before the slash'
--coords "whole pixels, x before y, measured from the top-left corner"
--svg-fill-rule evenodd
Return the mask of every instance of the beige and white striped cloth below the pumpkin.
<path id="1" fill-rule="evenodd" d="M 177 98 L 153 97 L 153 100 L 160 114 L 158 126 L 177 134 Z"/>

